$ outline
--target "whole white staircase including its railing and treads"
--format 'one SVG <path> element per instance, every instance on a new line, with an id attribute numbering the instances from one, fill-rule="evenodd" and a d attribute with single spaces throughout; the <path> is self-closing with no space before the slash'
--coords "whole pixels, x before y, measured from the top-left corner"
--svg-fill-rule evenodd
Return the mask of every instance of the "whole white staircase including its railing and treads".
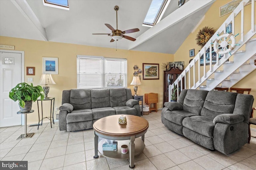
<path id="1" fill-rule="evenodd" d="M 244 31 L 244 6 L 246 5 L 251 6 L 250 15 L 246 15 L 246 18 L 250 18 L 251 26 L 251 29 L 247 32 Z M 256 69 L 254 61 L 256 60 L 256 38 L 253 38 L 256 34 L 256 25 L 254 25 L 254 5 L 255 0 L 243 0 L 238 5 L 176 79 L 174 82 L 175 86 L 180 90 L 198 88 L 201 90 L 213 90 L 215 87 L 230 88 Z M 236 22 L 234 22 L 235 20 Z M 232 23 L 232 33 L 227 34 L 226 26 L 230 23 Z M 235 30 L 237 27 L 240 27 L 239 32 Z M 240 40 L 237 42 L 236 39 L 238 39 L 238 37 Z M 226 46 L 225 43 L 228 44 L 228 46 Z M 215 49 L 222 47 L 220 51 L 216 50 L 217 57 L 215 58 L 212 57 L 212 49 L 214 46 Z M 206 65 L 206 51 L 209 50 L 208 60 L 210 60 L 210 64 L 208 66 Z M 219 56 L 223 57 L 219 59 Z M 212 63 L 215 61 L 213 59 L 216 59 L 215 64 Z M 184 87 L 182 86 L 182 81 L 184 81 Z M 169 86 L 169 100 L 174 90 L 174 84 Z M 179 97 L 179 93 L 177 96 Z"/>

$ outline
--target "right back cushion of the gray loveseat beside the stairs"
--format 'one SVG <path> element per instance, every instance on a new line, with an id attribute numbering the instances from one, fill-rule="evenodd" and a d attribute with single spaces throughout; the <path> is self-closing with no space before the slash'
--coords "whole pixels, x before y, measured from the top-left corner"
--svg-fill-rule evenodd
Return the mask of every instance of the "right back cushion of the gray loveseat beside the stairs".
<path id="1" fill-rule="evenodd" d="M 237 93 L 212 90 L 208 92 L 202 116 L 214 118 L 217 115 L 233 113 Z"/>

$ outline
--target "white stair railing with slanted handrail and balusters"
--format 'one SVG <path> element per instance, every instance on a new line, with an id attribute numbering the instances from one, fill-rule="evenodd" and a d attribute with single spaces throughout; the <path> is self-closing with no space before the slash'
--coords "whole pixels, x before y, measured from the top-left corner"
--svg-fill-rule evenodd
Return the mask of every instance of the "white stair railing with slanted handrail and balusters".
<path id="1" fill-rule="evenodd" d="M 251 2 L 252 1 L 252 2 Z M 179 92 L 182 89 L 196 89 L 198 88 L 207 78 L 212 75 L 223 63 L 225 63 L 242 45 L 244 45 L 247 41 L 250 40 L 250 38 L 255 35 L 255 27 L 254 25 L 254 2 L 255 0 L 242 0 L 242 2 L 236 7 L 236 9 L 230 14 L 230 16 L 224 21 L 224 23 L 219 27 L 219 29 L 214 33 L 214 35 L 209 39 L 209 41 L 204 45 L 204 47 L 199 51 L 199 53 L 196 55 L 196 57 L 188 64 L 188 66 L 184 69 L 184 71 L 178 76 L 176 81 L 169 85 L 169 102 L 171 99 L 171 95 L 174 90 L 174 84 L 177 86 L 179 90 L 177 90 L 177 98 L 179 98 Z M 244 6 L 248 5 L 251 2 L 251 29 L 244 34 Z M 238 14 L 241 13 L 241 18 L 238 18 Z M 236 33 L 235 35 L 235 24 L 237 24 L 237 21 L 235 22 L 235 19 L 238 18 L 241 23 L 241 31 L 240 33 Z M 223 54 L 223 57 L 219 59 L 218 53 L 216 54 L 216 63 L 212 64 L 212 45 L 214 44 L 214 41 L 221 36 L 226 34 L 226 27 L 228 24 L 232 23 L 232 35 L 237 36 L 240 34 L 240 41 L 234 46 L 234 49 L 230 51 L 227 54 Z M 209 60 L 210 60 L 210 66 L 206 67 L 206 50 L 209 50 Z M 203 56 L 203 59 L 200 59 Z M 200 61 L 203 63 L 200 64 Z M 197 63 L 197 64 L 196 64 Z M 197 66 L 196 66 L 197 65 Z M 201 65 L 203 66 L 202 68 Z M 197 69 L 196 69 L 197 68 Z M 203 69 L 203 75 L 201 75 L 200 70 Z M 198 74 L 198 80 L 196 80 L 196 74 Z M 184 87 L 183 87 L 183 78 L 184 78 Z M 188 79 L 188 80 L 187 80 Z M 188 81 L 188 86 L 187 86 Z M 192 86 L 191 86 L 192 84 Z"/>

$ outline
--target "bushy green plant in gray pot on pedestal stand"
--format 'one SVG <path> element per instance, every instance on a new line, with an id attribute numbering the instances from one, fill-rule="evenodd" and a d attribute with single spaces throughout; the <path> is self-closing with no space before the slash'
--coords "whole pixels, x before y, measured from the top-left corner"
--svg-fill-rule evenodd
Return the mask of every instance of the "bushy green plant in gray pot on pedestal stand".
<path id="1" fill-rule="evenodd" d="M 33 86 L 32 83 L 19 83 L 9 92 L 9 98 L 14 102 L 18 100 L 22 112 L 30 111 L 32 102 L 36 102 L 39 97 L 44 100 L 44 90 L 42 86 Z"/>

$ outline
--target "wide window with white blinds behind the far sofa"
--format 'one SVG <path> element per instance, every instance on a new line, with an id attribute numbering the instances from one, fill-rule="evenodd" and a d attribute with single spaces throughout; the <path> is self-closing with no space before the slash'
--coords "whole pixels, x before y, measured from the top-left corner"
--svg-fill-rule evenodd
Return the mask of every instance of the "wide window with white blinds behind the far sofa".
<path id="1" fill-rule="evenodd" d="M 77 56 L 77 88 L 127 87 L 127 60 Z"/>

